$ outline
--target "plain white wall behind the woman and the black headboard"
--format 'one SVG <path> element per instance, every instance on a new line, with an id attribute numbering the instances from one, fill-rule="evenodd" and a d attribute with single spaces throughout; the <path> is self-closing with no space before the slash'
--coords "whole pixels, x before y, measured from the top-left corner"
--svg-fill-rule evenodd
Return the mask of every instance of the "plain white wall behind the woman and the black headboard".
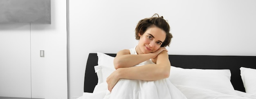
<path id="1" fill-rule="evenodd" d="M 137 45 L 137 22 L 154 13 L 171 26 L 173 55 L 256 56 L 255 0 L 70 0 L 70 99 L 82 96 L 89 53 Z"/>

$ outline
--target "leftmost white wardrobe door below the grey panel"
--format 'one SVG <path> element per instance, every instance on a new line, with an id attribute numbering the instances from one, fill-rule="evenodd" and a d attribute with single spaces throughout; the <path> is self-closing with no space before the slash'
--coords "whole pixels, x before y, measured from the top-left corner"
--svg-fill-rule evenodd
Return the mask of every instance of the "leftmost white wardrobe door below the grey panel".
<path id="1" fill-rule="evenodd" d="M 0 24 L 0 97 L 31 97 L 29 24 Z"/>

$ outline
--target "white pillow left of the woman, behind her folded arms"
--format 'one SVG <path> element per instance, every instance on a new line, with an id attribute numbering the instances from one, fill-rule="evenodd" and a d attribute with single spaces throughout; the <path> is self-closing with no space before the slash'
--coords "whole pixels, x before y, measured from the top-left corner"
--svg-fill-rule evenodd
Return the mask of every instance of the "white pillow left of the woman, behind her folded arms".
<path id="1" fill-rule="evenodd" d="M 98 76 L 98 84 L 106 82 L 107 77 L 115 71 L 114 58 L 110 55 L 104 53 L 97 53 L 98 56 L 98 66 L 94 66 L 95 73 Z"/>

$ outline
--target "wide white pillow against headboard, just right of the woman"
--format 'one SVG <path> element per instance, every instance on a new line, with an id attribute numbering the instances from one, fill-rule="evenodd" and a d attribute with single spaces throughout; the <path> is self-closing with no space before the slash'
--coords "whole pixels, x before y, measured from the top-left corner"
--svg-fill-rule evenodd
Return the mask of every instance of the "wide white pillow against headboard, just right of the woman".
<path id="1" fill-rule="evenodd" d="M 170 77 L 173 84 L 204 88 L 229 95 L 237 95 L 228 69 L 184 69 L 171 66 Z"/>

